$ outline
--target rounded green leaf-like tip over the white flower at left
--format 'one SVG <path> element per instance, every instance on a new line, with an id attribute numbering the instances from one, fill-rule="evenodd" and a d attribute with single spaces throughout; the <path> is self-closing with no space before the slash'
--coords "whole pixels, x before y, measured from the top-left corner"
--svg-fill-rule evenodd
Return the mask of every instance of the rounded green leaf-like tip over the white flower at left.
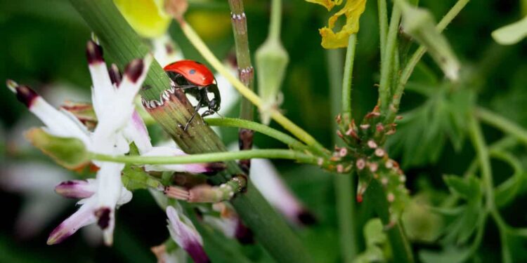
<path id="1" fill-rule="evenodd" d="M 90 162 L 84 143 L 77 138 L 53 136 L 42 128 L 32 128 L 25 137 L 53 161 L 70 170 L 82 169 Z"/>

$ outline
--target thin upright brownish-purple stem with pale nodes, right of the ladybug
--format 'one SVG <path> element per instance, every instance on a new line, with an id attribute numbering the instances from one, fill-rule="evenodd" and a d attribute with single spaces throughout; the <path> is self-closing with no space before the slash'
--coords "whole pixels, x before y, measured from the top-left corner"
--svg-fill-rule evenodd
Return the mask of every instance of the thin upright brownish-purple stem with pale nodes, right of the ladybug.
<path id="1" fill-rule="evenodd" d="M 247 36 L 247 17 L 243 8 L 243 0 L 229 0 L 230 20 L 233 24 L 234 42 L 236 48 L 236 62 L 238 64 L 238 79 L 254 90 L 254 69 L 251 65 L 249 53 L 249 39 Z M 240 106 L 240 119 L 252 121 L 254 119 L 254 107 L 251 102 L 242 97 Z M 252 148 L 252 130 L 242 128 L 238 131 L 240 150 Z M 245 172 L 249 172 L 250 160 L 241 160 L 240 166 Z"/>

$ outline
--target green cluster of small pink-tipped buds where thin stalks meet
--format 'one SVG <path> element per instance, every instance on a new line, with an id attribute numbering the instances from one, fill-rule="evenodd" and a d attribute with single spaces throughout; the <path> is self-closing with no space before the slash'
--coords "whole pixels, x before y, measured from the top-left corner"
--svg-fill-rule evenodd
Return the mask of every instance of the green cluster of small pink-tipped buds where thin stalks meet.
<path id="1" fill-rule="evenodd" d="M 353 119 L 337 116 L 341 137 L 346 146 L 335 147 L 330 161 L 337 173 L 349 173 L 355 168 L 358 174 L 357 201 L 363 201 L 363 195 L 372 180 L 377 180 L 384 189 L 390 213 L 394 217 L 401 215 L 408 200 L 406 177 L 396 161 L 389 158 L 383 145 L 386 137 L 395 133 L 396 124 L 382 123 L 382 116 L 377 107 L 366 114 L 362 123 L 356 125 Z"/>

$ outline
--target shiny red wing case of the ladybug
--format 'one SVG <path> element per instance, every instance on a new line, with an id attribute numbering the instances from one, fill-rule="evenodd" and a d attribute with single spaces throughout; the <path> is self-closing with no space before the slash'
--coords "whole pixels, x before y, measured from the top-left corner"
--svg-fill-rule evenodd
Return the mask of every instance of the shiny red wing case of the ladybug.
<path id="1" fill-rule="evenodd" d="M 176 72 L 181 74 L 191 83 L 197 86 L 209 86 L 214 83 L 214 74 L 200 62 L 194 60 L 179 60 L 164 68 L 165 72 Z"/>

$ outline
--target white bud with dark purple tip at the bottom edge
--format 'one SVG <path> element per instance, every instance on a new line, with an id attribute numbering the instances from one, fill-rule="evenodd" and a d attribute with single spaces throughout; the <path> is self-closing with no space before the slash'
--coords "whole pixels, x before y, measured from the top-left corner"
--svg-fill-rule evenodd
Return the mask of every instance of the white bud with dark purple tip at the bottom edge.
<path id="1" fill-rule="evenodd" d="M 178 213 L 176 208 L 167 206 L 168 229 L 170 236 L 183 248 L 196 263 L 210 262 L 203 249 L 203 241 L 194 225 L 183 213 Z"/>

